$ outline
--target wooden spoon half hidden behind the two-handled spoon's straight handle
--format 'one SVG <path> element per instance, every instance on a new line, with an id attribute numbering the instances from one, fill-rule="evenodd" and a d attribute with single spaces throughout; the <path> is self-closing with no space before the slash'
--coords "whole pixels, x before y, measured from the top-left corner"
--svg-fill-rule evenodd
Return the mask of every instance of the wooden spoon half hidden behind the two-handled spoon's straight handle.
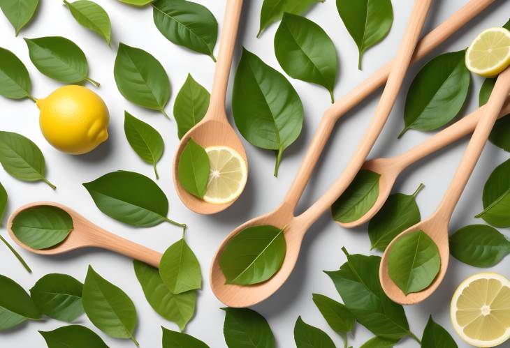
<path id="1" fill-rule="evenodd" d="M 381 175 L 379 177 L 379 195 L 377 196 L 377 201 L 374 203 L 372 208 L 370 208 L 370 210 L 358 220 L 352 222 L 337 221 L 337 224 L 342 227 L 352 228 L 368 222 L 379 212 L 379 210 L 381 210 L 400 173 L 414 162 L 421 160 L 425 156 L 435 153 L 435 151 L 438 151 L 439 149 L 456 142 L 458 139 L 465 137 L 469 133 L 472 133 L 485 113 L 485 109 L 485 106 L 480 107 L 475 112 L 463 117 L 456 123 L 453 123 L 453 125 L 445 128 L 409 151 L 402 153 L 400 156 L 367 160 L 361 169 L 367 169 Z M 500 112 L 500 117 L 508 114 L 510 114 L 510 98 L 507 98 L 507 102 Z"/>

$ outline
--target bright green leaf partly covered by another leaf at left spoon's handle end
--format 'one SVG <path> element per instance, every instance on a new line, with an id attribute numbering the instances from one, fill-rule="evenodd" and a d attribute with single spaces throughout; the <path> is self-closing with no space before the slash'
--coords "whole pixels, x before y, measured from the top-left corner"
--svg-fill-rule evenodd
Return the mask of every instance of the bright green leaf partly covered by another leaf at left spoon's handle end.
<path id="1" fill-rule="evenodd" d="M 152 309 L 184 330 L 195 313 L 196 291 L 172 294 L 163 284 L 157 268 L 133 260 L 136 278 Z"/>

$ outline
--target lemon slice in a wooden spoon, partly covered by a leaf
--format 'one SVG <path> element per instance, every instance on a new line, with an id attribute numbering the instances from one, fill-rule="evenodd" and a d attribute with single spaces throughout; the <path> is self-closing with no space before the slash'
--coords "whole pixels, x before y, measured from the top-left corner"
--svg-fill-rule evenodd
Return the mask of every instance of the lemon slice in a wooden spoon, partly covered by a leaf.
<path id="1" fill-rule="evenodd" d="M 210 146 L 209 181 L 203 200 L 212 204 L 225 204 L 239 197 L 245 189 L 248 171 L 245 160 L 228 146 Z"/>

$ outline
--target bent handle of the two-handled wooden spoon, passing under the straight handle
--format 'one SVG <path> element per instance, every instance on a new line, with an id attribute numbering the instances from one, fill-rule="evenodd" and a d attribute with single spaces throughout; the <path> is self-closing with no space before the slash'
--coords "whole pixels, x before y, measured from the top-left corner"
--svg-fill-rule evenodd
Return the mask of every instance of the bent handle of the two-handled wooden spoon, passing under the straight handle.
<path id="1" fill-rule="evenodd" d="M 472 20 L 494 1 L 495 0 L 469 1 L 469 3 L 460 8 L 460 10 L 449 17 L 448 20 L 440 24 L 439 27 L 428 33 L 428 35 L 418 43 L 411 63 L 416 63 L 423 59 L 424 56 L 432 52 L 432 50 L 435 50 L 436 47 L 452 36 L 453 33 L 456 33 L 464 24 Z M 379 89 L 379 87 L 388 80 L 388 76 L 394 64 L 395 59 L 377 70 L 376 73 L 368 77 L 367 80 L 347 93 L 344 98 L 337 100 L 335 104 L 326 110 L 312 142 L 309 145 L 307 153 L 305 154 L 305 158 L 303 158 L 298 174 L 296 174 L 296 179 L 294 179 L 284 199 L 284 204 L 288 205 L 292 211 L 296 209 L 296 205 L 301 195 L 303 195 L 303 191 L 312 176 L 316 163 L 321 156 L 324 146 L 326 146 L 328 142 L 337 120 L 367 98 L 367 96 L 370 96 L 370 94 Z"/>

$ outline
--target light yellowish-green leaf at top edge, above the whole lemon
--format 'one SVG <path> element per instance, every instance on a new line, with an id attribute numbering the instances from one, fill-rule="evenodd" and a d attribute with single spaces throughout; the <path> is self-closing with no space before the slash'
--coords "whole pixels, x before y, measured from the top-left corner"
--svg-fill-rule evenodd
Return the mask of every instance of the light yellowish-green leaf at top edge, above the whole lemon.
<path id="1" fill-rule="evenodd" d="M 72 3 L 64 0 L 75 20 L 83 27 L 99 34 L 110 45 L 112 24 L 108 13 L 94 1 L 78 0 Z"/>

